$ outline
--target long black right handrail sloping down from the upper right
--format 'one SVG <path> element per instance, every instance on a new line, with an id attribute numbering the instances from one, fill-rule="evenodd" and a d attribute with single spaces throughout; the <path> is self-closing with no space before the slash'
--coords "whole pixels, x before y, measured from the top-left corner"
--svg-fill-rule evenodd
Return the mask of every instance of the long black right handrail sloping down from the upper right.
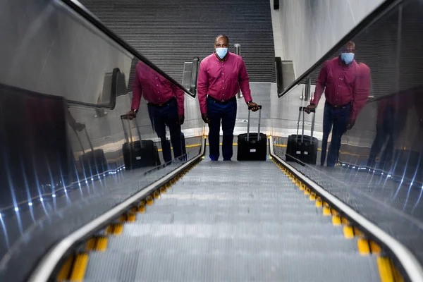
<path id="1" fill-rule="evenodd" d="M 333 54 L 335 54 L 339 49 L 341 49 L 345 43 L 350 41 L 355 35 L 358 35 L 364 28 L 368 27 L 372 23 L 374 23 L 375 20 L 380 18 L 381 16 L 384 16 L 388 11 L 391 11 L 393 8 L 398 6 L 403 2 L 403 0 L 385 0 L 384 3 L 382 3 L 379 7 L 377 7 L 372 13 L 369 14 L 366 18 L 364 18 L 358 25 L 356 25 L 353 30 L 348 32 L 347 35 L 345 35 L 337 44 L 335 44 L 329 51 L 322 56 L 319 61 L 314 63 L 314 65 L 309 68 L 305 73 L 302 73 L 299 78 L 297 78 L 294 82 L 292 82 L 288 87 L 286 87 L 286 90 L 283 90 L 281 94 L 278 93 L 278 97 L 281 98 L 283 95 L 290 92 L 295 85 L 298 85 L 301 83 L 302 80 L 307 78 L 309 75 L 311 75 L 314 71 L 317 70 L 325 61 L 331 59 Z"/>

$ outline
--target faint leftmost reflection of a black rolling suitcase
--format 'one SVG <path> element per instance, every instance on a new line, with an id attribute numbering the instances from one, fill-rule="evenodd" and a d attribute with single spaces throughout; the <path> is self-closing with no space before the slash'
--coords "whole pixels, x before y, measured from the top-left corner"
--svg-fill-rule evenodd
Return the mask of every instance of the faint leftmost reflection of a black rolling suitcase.
<path id="1" fill-rule="evenodd" d="M 88 144 L 90 145 L 91 152 L 85 153 L 84 146 L 82 145 L 81 139 L 76 130 L 75 135 L 78 137 L 78 142 L 80 143 L 82 149 L 82 156 L 80 156 L 79 161 L 82 166 L 82 171 L 84 171 L 85 176 L 96 176 L 97 174 L 103 174 L 108 170 L 106 155 L 102 149 L 95 149 L 92 147 L 92 142 L 90 136 L 88 136 L 87 129 L 84 126 L 85 136 L 87 137 Z"/>

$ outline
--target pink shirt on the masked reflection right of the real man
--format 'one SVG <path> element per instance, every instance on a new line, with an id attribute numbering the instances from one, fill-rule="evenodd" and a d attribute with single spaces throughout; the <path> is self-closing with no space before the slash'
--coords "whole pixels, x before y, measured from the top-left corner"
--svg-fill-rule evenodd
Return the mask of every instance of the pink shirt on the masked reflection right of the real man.
<path id="1" fill-rule="evenodd" d="M 367 102 L 367 97 L 369 97 L 369 87 L 367 87 L 369 74 L 368 80 L 364 79 L 367 72 L 365 68 L 367 66 L 364 66 L 359 68 L 355 61 L 345 66 L 339 57 L 326 61 L 321 68 L 319 78 L 317 78 L 312 104 L 319 104 L 321 94 L 324 92 L 326 101 L 333 106 L 343 106 L 352 103 L 351 118 L 357 118 L 358 112 Z M 360 69 L 363 71 L 360 71 Z M 360 76 L 360 80 L 356 80 L 357 75 Z M 366 97 L 364 98 L 364 96 Z"/>

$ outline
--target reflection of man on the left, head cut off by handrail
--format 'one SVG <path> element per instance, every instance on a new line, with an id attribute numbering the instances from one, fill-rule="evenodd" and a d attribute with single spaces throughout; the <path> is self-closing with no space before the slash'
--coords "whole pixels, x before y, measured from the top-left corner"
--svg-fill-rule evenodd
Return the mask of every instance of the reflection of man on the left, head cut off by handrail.
<path id="1" fill-rule="evenodd" d="M 141 96 L 148 102 L 148 114 L 157 136 L 165 162 L 172 160 L 171 145 L 166 139 L 166 125 L 171 133 L 173 155 L 182 156 L 180 125 L 184 121 L 184 92 L 159 75 L 145 63 L 139 61 L 133 81 L 133 101 L 130 116 L 135 116 L 140 108 Z"/>

